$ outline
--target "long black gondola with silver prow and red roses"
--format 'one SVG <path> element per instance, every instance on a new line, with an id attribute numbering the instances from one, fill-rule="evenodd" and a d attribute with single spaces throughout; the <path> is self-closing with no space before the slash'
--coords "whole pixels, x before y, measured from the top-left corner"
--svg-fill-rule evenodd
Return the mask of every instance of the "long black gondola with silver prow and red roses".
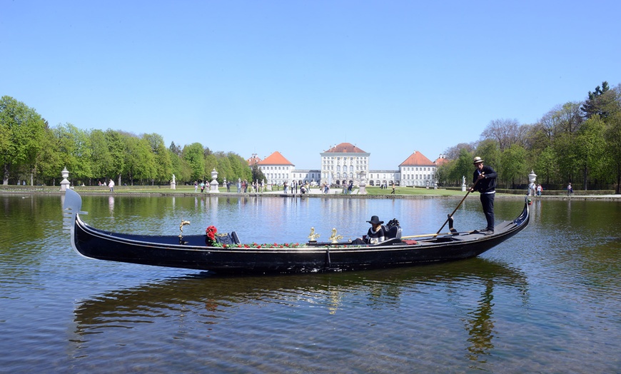
<path id="1" fill-rule="evenodd" d="M 183 236 L 183 221 L 179 236 L 99 230 L 82 221 L 80 215 L 85 212 L 80 211 L 81 204 L 78 193 L 66 191 L 65 226 L 71 233 L 71 245 L 82 256 L 218 274 L 352 271 L 463 260 L 503 243 L 522 231 L 529 220 L 526 200 L 520 216 L 499 223 L 494 233 L 458 232 L 451 227 L 448 233 L 415 238 L 401 236 L 398 224 L 393 224 L 388 240 L 376 244 L 338 241 L 336 233 L 329 241 L 315 241 L 311 230 L 307 243 L 257 245 L 243 243 L 235 232 Z"/>

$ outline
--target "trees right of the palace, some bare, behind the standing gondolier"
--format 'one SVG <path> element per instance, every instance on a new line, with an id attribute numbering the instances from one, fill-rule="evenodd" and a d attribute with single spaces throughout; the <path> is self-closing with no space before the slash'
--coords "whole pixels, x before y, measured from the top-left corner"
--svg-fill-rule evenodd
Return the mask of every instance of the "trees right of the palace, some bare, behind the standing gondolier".
<path id="1" fill-rule="evenodd" d="M 524 186 L 535 171 L 537 183 L 548 189 L 567 183 L 584 190 L 614 185 L 621 193 L 621 84 L 610 89 L 604 81 L 585 101 L 555 106 L 537 123 L 490 121 L 479 141 L 448 148 L 438 182 L 461 185 L 462 176 L 470 181 L 474 156 L 498 171 L 503 188 Z"/>

